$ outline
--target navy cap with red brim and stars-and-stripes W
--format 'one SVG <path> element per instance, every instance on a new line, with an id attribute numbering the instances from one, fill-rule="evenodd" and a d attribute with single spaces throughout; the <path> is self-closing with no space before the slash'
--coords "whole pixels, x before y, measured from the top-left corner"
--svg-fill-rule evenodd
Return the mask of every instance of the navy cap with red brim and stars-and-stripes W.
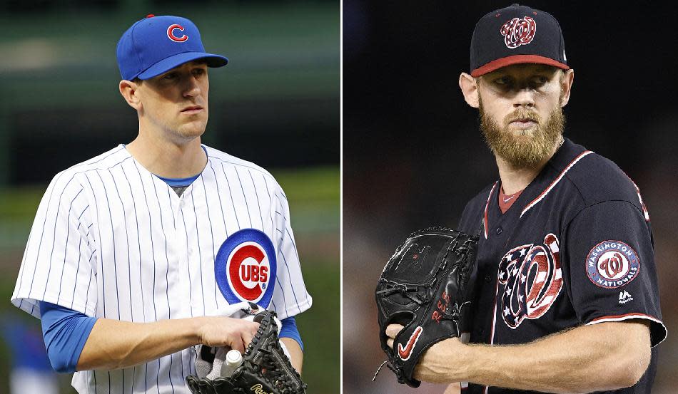
<path id="1" fill-rule="evenodd" d="M 558 21 L 547 12 L 512 4 L 483 16 L 471 38 L 471 76 L 518 63 L 569 70 Z"/>

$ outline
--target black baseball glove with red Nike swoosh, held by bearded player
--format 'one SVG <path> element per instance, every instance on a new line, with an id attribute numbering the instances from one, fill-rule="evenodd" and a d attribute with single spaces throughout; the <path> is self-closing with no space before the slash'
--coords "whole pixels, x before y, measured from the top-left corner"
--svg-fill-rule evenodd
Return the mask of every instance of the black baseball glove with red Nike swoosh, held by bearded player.
<path id="1" fill-rule="evenodd" d="M 419 387 L 412 375 L 424 351 L 465 331 L 477 242 L 477 236 L 432 227 L 410 234 L 388 260 L 375 294 L 387 356 L 379 370 L 386 364 L 399 383 Z M 404 328 L 390 348 L 385 330 L 393 323 Z"/>

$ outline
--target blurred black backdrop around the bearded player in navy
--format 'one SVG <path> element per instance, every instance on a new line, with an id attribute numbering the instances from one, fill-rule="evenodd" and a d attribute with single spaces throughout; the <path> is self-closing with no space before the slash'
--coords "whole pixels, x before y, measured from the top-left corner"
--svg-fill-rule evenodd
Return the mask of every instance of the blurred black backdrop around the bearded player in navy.
<path id="1" fill-rule="evenodd" d="M 498 179 L 469 72 L 480 17 L 509 1 L 343 1 L 343 392 L 414 390 L 383 370 L 374 288 L 415 229 L 457 227 L 465 203 Z M 562 26 L 575 83 L 565 135 L 617 162 L 654 229 L 664 323 L 653 393 L 678 390 L 678 11 L 667 2 L 532 1 Z M 619 338 L 623 341 L 623 338 Z"/>

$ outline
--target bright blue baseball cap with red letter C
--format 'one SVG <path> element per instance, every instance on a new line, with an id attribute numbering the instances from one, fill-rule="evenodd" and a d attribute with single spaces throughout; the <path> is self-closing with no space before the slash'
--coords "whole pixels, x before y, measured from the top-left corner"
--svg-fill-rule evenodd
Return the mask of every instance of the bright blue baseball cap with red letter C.
<path id="1" fill-rule="evenodd" d="M 123 33 L 116 49 L 123 79 L 148 79 L 188 61 L 204 59 L 222 67 L 228 58 L 206 53 L 198 27 L 181 16 L 154 16 L 137 21 Z"/>

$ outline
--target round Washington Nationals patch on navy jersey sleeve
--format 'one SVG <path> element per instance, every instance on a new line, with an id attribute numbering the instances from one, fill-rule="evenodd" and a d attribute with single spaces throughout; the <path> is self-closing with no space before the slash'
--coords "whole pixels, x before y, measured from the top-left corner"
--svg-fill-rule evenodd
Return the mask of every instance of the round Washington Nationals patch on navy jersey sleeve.
<path id="1" fill-rule="evenodd" d="M 640 258 L 621 241 L 600 242 L 586 256 L 586 273 L 596 286 L 617 289 L 632 281 L 640 271 Z"/>

